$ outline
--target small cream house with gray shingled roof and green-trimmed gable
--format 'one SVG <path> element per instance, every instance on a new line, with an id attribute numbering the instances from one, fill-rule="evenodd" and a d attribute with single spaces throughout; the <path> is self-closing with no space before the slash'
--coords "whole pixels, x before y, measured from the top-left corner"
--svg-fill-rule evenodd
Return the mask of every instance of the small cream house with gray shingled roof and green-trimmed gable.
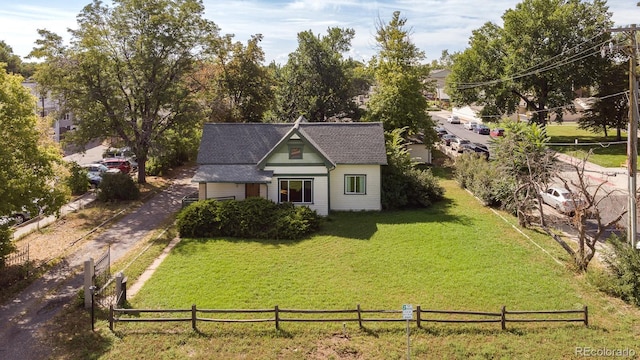
<path id="1" fill-rule="evenodd" d="M 381 123 L 205 124 L 198 198 L 261 196 L 330 210 L 380 210 Z"/>

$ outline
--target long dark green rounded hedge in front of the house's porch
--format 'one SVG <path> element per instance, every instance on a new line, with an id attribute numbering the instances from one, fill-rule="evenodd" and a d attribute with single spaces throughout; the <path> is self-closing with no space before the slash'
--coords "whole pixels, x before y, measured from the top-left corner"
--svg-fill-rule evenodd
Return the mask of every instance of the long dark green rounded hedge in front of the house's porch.
<path id="1" fill-rule="evenodd" d="M 276 204 L 259 197 L 209 199 L 186 207 L 178 215 L 177 225 L 182 237 L 300 239 L 319 228 L 320 217 L 306 206 Z"/>

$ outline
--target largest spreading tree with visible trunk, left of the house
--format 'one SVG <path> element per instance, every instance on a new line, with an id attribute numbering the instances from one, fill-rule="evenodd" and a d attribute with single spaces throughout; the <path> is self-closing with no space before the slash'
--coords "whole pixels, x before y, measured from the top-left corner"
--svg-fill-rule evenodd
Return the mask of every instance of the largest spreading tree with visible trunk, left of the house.
<path id="1" fill-rule="evenodd" d="M 71 46 L 40 30 L 32 55 L 44 58 L 37 81 L 79 119 L 77 142 L 119 137 L 137 156 L 146 182 L 149 149 L 178 124 L 202 120 L 187 77 L 218 28 L 200 0 L 99 0 L 78 15 Z"/>

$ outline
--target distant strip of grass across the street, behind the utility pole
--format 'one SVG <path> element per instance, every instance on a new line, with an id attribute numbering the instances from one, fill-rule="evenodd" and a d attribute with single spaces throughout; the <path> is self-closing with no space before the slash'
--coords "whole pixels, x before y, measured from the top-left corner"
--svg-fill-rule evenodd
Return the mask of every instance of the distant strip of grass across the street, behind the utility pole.
<path id="1" fill-rule="evenodd" d="M 610 130 L 604 136 L 604 132 L 592 133 L 590 131 L 578 129 L 576 123 L 564 123 L 562 125 L 547 125 L 547 135 L 551 137 L 552 143 L 607 143 L 616 142 L 615 130 Z M 627 133 L 622 133 L 622 140 L 627 140 Z M 554 146 L 555 150 L 577 157 L 584 157 L 589 150 L 593 150 L 593 155 L 589 157 L 589 161 L 604 167 L 620 167 L 627 159 L 627 145 L 593 145 L 593 146 Z"/>

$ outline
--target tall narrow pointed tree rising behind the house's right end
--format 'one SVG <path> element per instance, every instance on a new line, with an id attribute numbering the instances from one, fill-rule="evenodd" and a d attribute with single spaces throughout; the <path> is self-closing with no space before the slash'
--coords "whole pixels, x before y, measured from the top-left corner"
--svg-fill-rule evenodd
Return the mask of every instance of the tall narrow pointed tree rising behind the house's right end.
<path id="1" fill-rule="evenodd" d="M 388 24 L 377 25 L 379 50 L 371 61 L 376 88 L 367 103 L 366 119 L 381 121 L 387 131 L 404 127 L 408 135 L 424 131 L 425 143 L 433 143 L 436 135 L 424 95 L 429 67 L 421 64 L 425 54 L 411 42 L 406 22 L 396 11 Z"/>

